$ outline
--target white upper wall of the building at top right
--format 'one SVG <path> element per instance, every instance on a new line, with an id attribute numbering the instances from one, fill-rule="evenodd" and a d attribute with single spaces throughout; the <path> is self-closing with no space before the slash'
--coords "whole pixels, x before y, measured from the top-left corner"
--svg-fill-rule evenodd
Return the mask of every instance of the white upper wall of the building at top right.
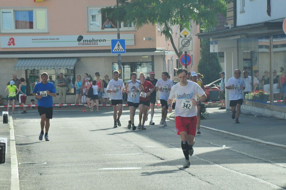
<path id="1" fill-rule="evenodd" d="M 244 0 L 244 12 L 241 12 L 241 1 L 243 0 L 237 0 L 237 26 L 260 23 L 286 17 L 285 0 L 271 0 L 271 16 L 268 16 L 266 12 L 267 0 Z"/>

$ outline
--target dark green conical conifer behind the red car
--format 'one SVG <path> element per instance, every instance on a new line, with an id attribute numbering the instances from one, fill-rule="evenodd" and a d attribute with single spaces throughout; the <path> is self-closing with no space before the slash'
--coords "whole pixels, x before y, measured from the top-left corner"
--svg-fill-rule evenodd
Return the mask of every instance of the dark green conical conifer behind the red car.
<path id="1" fill-rule="evenodd" d="M 204 75 L 204 84 L 221 78 L 219 73 L 222 72 L 223 68 L 219 63 L 219 54 L 210 53 L 210 39 L 201 40 L 200 57 L 198 72 Z"/>

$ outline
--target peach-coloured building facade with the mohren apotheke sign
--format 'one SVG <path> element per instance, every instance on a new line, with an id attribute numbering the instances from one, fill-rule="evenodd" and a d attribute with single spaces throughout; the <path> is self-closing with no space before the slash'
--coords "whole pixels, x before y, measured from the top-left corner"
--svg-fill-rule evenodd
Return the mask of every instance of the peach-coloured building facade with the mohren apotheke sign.
<path id="1" fill-rule="evenodd" d="M 108 15 L 101 8 L 114 6 L 116 0 L 33 2 L 0 0 L 0 88 L 6 88 L 12 75 L 25 78 L 28 99 L 32 99 L 32 83 L 42 72 L 47 72 L 57 85 L 59 73 L 68 80 L 67 103 L 74 102 L 76 76 L 95 72 L 112 76 L 119 70 L 122 79 L 130 79 L 131 72 L 146 75 L 154 71 L 156 78 L 167 71 L 175 78 L 174 68 L 180 67 L 170 41 L 161 35 L 161 27 L 145 25 L 136 29 L 133 24 L 120 23 L 109 18 L 120 28 L 120 38 L 126 40 L 126 53 L 121 54 L 122 66 L 117 54 L 111 53 L 111 39 L 117 39 L 117 29 L 105 26 Z M 103 28 L 102 28 L 103 27 Z M 199 27 L 192 27 L 193 33 Z M 173 39 L 178 44 L 178 26 L 173 26 Z M 200 58 L 199 40 L 193 36 L 193 67 Z M 58 91 L 56 86 L 56 89 Z M 30 96 L 30 97 L 29 97 Z M 58 98 L 55 98 L 55 102 Z M 4 103 L 6 103 L 4 101 Z"/>

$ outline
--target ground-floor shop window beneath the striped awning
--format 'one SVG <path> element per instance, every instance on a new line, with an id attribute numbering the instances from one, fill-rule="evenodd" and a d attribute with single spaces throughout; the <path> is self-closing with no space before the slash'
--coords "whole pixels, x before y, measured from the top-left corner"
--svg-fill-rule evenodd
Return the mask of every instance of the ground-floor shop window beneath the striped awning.
<path id="1" fill-rule="evenodd" d="M 67 79 L 67 95 L 74 94 L 74 82 L 75 82 L 75 70 L 74 69 L 52 69 L 52 70 L 44 70 L 44 69 L 32 69 L 26 70 L 26 82 L 27 82 L 27 94 L 32 95 L 32 92 L 35 87 L 35 82 L 37 81 L 37 77 L 39 76 L 41 81 L 41 74 L 46 72 L 49 75 L 48 82 L 52 82 L 55 85 L 57 94 L 59 92 L 58 80 L 59 74 L 63 73 L 64 78 Z"/>

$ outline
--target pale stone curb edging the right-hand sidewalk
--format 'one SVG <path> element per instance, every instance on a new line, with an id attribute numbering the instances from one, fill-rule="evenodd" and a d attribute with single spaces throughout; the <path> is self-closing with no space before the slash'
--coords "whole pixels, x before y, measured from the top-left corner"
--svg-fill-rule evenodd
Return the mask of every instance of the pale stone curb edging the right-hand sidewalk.
<path id="1" fill-rule="evenodd" d="M 167 117 L 167 119 L 170 120 L 170 121 L 175 122 L 174 118 Z M 215 129 L 215 128 L 211 128 L 211 127 L 207 127 L 207 126 L 203 126 L 203 125 L 201 125 L 200 127 L 203 128 L 203 129 L 207 129 L 207 130 L 211 130 L 211 131 L 215 131 L 215 132 L 219 132 L 219 133 L 235 136 L 235 137 L 238 137 L 238 138 L 242 138 L 242 139 L 245 139 L 245 140 L 251 140 L 251 141 L 254 141 L 254 142 L 261 143 L 261 144 L 265 144 L 265 145 L 270 145 L 270 146 L 273 146 L 273 147 L 279 147 L 279 148 L 286 149 L 286 145 L 281 145 L 281 144 L 274 143 L 274 142 L 268 142 L 268 141 L 260 140 L 258 138 L 252 138 L 252 137 L 249 137 L 249 136 L 244 136 L 244 135 L 240 135 L 240 134 L 236 134 L 236 133 L 232 133 L 232 132 L 228 132 L 228 131 L 224 131 L 224 130 L 219 130 L 219 129 Z"/>

